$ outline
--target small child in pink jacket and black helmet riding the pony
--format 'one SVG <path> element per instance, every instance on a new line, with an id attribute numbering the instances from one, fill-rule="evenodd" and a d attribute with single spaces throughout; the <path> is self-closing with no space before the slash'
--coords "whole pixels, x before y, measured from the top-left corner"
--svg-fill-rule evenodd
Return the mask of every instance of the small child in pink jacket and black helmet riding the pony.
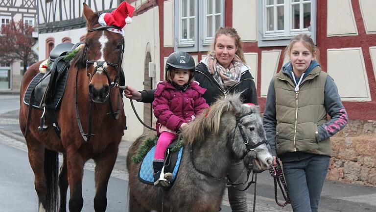
<path id="1" fill-rule="evenodd" d="M 152 107 L 157 118 L 157 147 L 153 159 L 154 185 L 168 187 L 171 173 L 164 173 L 164 152 L 176 138 L 176 133 L 185 128 L 205 108 L 201 97 L 206 89 L 192 80 L 195 63 L 185 52 L 174 52 L 166 61 L 165 80 L 158 83 Z"/>

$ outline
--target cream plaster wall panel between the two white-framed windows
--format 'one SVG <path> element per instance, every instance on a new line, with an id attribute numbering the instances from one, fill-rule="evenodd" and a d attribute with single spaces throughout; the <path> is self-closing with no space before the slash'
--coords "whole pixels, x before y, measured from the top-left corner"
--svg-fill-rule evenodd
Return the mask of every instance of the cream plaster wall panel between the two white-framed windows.
<path id="1" fill-rule="evenodd" d="M 243 41 L 257 41 L 257 1 L 233 1 L 233 27 Z"/>

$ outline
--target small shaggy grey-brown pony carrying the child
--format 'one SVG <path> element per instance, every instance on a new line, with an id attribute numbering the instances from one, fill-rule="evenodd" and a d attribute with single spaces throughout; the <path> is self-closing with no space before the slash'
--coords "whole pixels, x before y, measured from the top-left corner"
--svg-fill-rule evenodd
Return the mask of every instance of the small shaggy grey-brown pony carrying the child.
<path id="1" fill-rule="evenodd" d="M 248 151 L 256 153 L 254 172 L 268 169 L 273 161 L 258 106 L 242 105 L 239 94 L 219 99 L 182 134 L 179 173 L 168 191 L 142 183 L 141 163 L 132 161 L 143 142 L 155 135 L 143 134 L 129 148 L 129 212 L 161 212 L 162 204 L 166 212 L 218 212 L 232 160 L 244 158 Z"/>

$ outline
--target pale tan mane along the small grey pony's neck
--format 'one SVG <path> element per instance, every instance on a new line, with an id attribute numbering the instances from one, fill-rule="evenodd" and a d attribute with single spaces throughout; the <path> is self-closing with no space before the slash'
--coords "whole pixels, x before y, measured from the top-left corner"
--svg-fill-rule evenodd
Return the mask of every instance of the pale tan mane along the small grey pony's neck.
<path id="1" fill-rule="evenodd" d="M 186 144 L 192 144 L 195 141 L 202 141 L 205 139 L 205 132 L 218 133 L 221 116 L 231 107 L 230 102 L 241 104 L 241 93 L 228 94 L 219 97 L 210 109 L 206 109 L 199 116 L 197 116 L 188 128 L 182 134 Z"/>

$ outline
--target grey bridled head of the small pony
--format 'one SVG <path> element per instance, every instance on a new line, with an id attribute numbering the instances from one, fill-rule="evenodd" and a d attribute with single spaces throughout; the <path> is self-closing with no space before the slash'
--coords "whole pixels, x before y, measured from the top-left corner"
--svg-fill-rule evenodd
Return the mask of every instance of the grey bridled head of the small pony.
<path id="1" fill-rule="evenodd" d="M 235 115 L 233 142 L 235 157 L 248 161 L 253 159 L 253 171 L 262 172 L 269 169 L 273 162 L 270 146 L 266 141 L 259 107 L 230 100 L 231 111 Z"/>

